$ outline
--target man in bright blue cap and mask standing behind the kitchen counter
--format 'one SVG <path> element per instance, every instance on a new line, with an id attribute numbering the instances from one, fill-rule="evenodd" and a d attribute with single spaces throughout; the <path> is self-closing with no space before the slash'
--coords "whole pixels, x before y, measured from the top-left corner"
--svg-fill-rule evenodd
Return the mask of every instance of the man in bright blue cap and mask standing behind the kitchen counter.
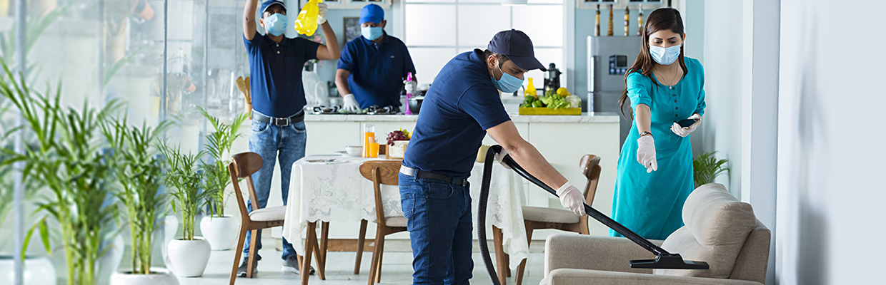
<path id="1" fill-rule="evenodd" d="M 403 41 L 385 33 L 385 11 L 377 4 L 360 12 L 362 36 L 345 44 L 338 60 L 335 83 L 345 109 L 400 106 L 400 86 L 416 66 Z"/>

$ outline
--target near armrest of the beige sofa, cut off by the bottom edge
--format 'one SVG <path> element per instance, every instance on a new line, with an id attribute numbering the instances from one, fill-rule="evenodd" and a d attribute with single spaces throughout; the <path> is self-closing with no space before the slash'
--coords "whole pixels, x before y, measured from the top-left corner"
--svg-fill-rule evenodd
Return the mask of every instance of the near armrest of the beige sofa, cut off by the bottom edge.
<path id="1" fill-rule="evenodd" d="M 585 285 L 585 284 L 611 284 L 611 285 L 683 285 L 683 284 L 711 284 L 711 285 L 763 285 L 763 283 L 746 280 L 716 279 L 703 277 L 685 277 L 671 275 L 635 274 L 624 272 L 611 272 L 583 269 L 556 269 L 541 281 L 547 285 Z"/>

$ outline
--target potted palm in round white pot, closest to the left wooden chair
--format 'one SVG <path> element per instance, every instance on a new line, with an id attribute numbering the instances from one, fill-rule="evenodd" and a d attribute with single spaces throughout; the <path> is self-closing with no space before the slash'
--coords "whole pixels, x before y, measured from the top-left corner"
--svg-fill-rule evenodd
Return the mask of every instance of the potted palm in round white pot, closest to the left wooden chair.
<path id="1" fill-rule="evenodd" d="M 231 182 L 228 172 L 230 148 L 234 145 L 234 140 L 240 137 L 240 125 L 249 116 L 237 116 L 231 124 L 225 124 L 219 118 L 209 115 L 206 109 L 200 109 L 200 112 L 214 128 L 213 132 L 206 135 L 206 152 L 211 160 L 202 162 L 200 166 L 206 177 L 204 189 L 214 195 L 209 203 L 211 213 L 200 220 L 200 232 L 214 251 L 227 251 L 237 242 L 237 229 L 240 226 L 237 218 L 224 213 L 225 200 L 229 195 L 229 191 L 225 190 Z"/>

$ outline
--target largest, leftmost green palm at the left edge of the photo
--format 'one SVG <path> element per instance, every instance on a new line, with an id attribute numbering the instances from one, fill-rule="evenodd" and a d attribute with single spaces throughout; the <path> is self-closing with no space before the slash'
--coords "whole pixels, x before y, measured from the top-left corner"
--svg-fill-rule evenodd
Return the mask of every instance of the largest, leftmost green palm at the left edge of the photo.
<path id="1" fill-rule="evenodd" d="M 111 101 L 102 109 L 84 104 L 82 109 L 65 108 L 56 93 L 39 94 L 24 82 L 13 80 L 4 64 L 0 96 L 19 110 L 25 126 L 19 137 L 33 145 L 23 153 L 6 151 L 3 164 L 23 162 L 22 180 L 36 180 L 48 189 L 37 202 L 37 223 L 28 236 L 39 229 L 43 245 L 51 252 L 48 222 L 58 222 L 60 243 L 66 262 L 68 284 L 95 284 L 97 264 L 113 235 L 116 208 L 113 203 L 115 176 L 107 154 L 100 151 L 99 125 L 119 106 Z M 27 241 L 24 245 L 27 249 Z"/>

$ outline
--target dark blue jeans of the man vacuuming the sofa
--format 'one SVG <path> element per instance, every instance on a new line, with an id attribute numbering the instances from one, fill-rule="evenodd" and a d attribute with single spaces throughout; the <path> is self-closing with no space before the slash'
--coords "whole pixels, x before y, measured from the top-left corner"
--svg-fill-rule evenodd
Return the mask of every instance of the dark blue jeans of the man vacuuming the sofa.
<path id="1" fill-rule="evenodd" d="M 400 203 L 412 244 L 413 284 L 469 284 L 470 185 L 400 174 Z"/>

